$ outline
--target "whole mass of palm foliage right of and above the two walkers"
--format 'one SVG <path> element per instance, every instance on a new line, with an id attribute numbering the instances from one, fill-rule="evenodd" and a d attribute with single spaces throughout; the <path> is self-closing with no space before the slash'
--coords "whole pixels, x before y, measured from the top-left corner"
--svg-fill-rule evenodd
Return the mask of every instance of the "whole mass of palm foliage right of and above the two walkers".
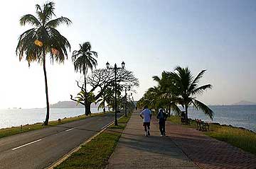
<path id="1" fill-rule="evenodd" d="M 147 105 L 156 111 L 161 107 L 169 112 L 173 110 L 179 115 L 181 110 L 177 105 L 182 105 L 185 107 L 187 115 L 188 106 L 193 105 L 197 110 L 202 110 L 212 119 L 213 111 L 201 101 L 196 100 L 196 96 L 203 94 L 206 89 L 212 88 L 210 84 L 198 86 L 199 80 L 203 77 L 205 71 L 201 71 L 194 78 L 188 67 L 178 66 L 173 72 L 164 71 L 161 78 L 153 76 L 158 85 L 146 91 L 142 99 L 139 100 L 138 106 L 144 107 L 144 105 Z"/>

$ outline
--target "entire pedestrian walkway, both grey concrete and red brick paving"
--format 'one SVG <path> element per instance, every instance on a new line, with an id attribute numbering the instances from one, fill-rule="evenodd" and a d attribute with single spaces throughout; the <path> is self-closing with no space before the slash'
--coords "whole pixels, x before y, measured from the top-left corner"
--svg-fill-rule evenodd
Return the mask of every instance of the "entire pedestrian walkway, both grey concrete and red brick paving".
<path id="1" fill-rule="evenodd" d="M 159 136 L 154 118 L 151 136 L 144 136 L 142 120 L 133 114 L 107 168 L 256 169 L 256 156 L 196 129 L 166 122 L 166 131 L 166 137 Z"/>

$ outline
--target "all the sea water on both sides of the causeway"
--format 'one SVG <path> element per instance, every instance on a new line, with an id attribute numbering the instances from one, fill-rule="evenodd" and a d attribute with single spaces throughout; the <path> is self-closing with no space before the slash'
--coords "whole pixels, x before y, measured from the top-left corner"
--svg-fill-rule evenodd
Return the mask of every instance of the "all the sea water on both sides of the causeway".
<path id="1" fill-rule="evenodd" d="M 188 108 L 188 117 L 201 119 L 206 122 L 218 122 L 220 124 L 231 124 L 235 127 L 244 127 L 256 132 L 256 105 L 214 105 L 209 106 L 214 112 L 213 121 L 197 111 L 193 107 Z M 102 112 L 97 108 L 93 112 Z M 63 119 L 83 115 L 84 108 L 54 108 L 50 109 L 50 120 Z M 0 128 L 20 126 L 21 124 L 33 124 L 43 122 L 46 119 L 46 109 L 13 109 L 0 110 Z"/>

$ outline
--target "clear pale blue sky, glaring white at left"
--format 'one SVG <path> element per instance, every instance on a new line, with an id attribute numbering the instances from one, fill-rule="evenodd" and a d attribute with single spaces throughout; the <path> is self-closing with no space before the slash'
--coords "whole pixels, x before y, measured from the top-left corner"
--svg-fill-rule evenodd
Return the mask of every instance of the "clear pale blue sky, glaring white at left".
<path id="1" fill-rule="evenodd" d="M 35 15 L 35 5 L 46 1 L 4 1 L 0 6 L 0 108 L 46 107 L 43 66 L 18 61 L 21 16 Z M 79 92 L 71 61 L 73 50 L 89 41 L 98 52 L 97 68 L 106 62 L 133 71 L 140 86 L 134 100 L 156 86 L 152 76 L 188 66 L 196 76 L 207 69 L 200 84 L 213 88 L 198 99 L 207 105 L 256 103 L 256 1 L 237 0 L 56 0 L 56 16 L 73 22 L 62 25 L 71 52 L 64 64 L 47 62 L 50 103 L 70 100 Z M 49 60 L 49 59 L 48 59 Z"/>

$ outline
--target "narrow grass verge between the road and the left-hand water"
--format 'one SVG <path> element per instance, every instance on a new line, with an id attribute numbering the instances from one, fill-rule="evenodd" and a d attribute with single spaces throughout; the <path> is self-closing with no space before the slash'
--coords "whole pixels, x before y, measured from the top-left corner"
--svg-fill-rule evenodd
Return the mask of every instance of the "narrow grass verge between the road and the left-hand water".
<path id="1" fill-rule="evenodd" d="M 53 127 L 53 126 L 57 126 L 59 124 L 65 124 L 68 122 L 74 122 L 77 120 L 83 120 L 85 118 L 88 117 L 94 117 L 97 115 L 104 115 L 103 113 L 92 113 L 90 116 L 85 116 L 85 115 L 79 115 L 76 117 L 70 117 L 70 118 L 64 118 L 62 120 L 60 120 L 60 122 L 58 122 L 58 120 L 54 120 L 54 121 L 50 121 L 48 123 L 48 126 L 43 126 L 43 123 L 36 123 L 36 124 L 26 124 L 23 125 L 22 128 L 21 127 L 9 127 L 9 128 L 5 128 L 5 129 L 0 129 L 0 139 L 5 137 L 5 136 L 12 136 L 15 134 L 20 134 L 20 133 L 24 133 L 24 132 L 30 132 L 36 129 L 43 129 L 46 127 Z"/>

